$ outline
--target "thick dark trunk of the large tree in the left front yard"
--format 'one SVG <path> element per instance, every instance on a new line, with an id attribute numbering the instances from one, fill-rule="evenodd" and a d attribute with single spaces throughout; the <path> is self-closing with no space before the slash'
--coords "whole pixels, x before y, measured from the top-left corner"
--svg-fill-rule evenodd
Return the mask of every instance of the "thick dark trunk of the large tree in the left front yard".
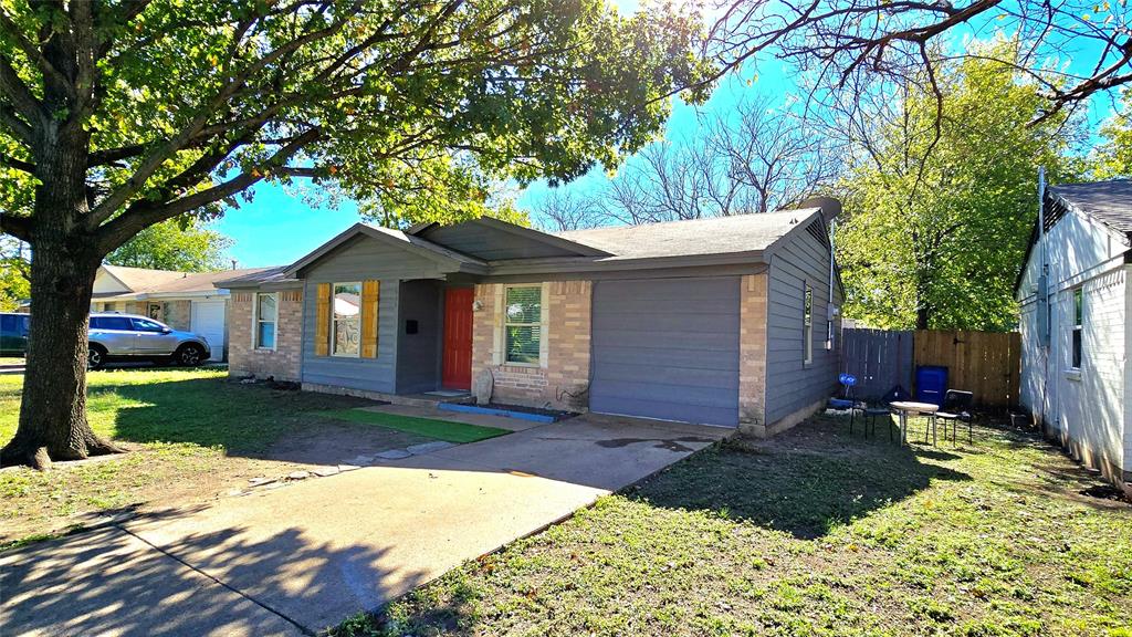
<path id="1" fill-rule="evenodd" d="M 45 469 L 121 451 L 94 435 L 86 421 L 87 317 L 102 255 L 76 219 L 86 211 L 85 146 L 53 153 L 41 165 L 32 228 L 32 324 L 16 436 L 0 466 Z"/>

